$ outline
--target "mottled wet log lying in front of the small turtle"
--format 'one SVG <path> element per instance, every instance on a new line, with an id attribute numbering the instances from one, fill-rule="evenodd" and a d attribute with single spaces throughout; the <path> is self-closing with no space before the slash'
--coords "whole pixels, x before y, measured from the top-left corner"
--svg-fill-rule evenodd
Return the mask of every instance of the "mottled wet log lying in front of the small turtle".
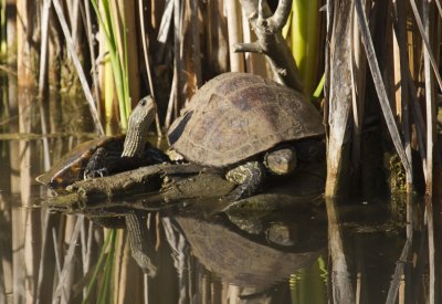
<path id="1" fill-rule="evenodd" d="M 91 213 L 101 213 L 109 207 L 119 212 L 129 206 L 135 209 L 157 210 L 165 202 L 196 198 L 218 199 L 233 188 L 234 185 L 222 175 L 201 166 L 160 164 L 74 182 L 66 188 L 65 193 L 48 199 L 48 206 L 67 212 L 87 209 Z M 137 203 L 140 199 L 143 203 Z"/>

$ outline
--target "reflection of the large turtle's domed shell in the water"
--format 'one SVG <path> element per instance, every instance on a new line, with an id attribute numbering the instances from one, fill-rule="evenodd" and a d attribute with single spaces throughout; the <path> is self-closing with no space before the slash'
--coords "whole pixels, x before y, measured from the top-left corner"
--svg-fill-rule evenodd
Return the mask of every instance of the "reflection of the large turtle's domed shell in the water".
<path id="1" fill-rule="evenodd" d="M 312 242 L 281 248 L 270 245 L 262 238 L 241 233 L 222 217 L 206 220 L 183 214 L 175 219 L 192 254 L 206 269 L 223 283 L 254 287 L 255 293 L 283 282 L 295 270 L 314 263 L 327 244 L 327 228 L 322 223 L 302 226 L 303 234 L 316 235 Z"/>

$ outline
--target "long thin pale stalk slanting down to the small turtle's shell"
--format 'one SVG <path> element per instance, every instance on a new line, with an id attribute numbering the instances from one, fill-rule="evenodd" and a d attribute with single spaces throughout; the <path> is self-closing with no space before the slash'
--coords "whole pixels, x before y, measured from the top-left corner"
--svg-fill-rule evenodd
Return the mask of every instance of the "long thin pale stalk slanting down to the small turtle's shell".
<path id="1" fill-rule="evenodd" d="M 72 61 L 75 65 L 80 82 L 81 82 L 83 91 L 84 91 L 84 95 L 90 105 L 90 109 L 91 109 L 92 118 L 94 119 L 95 128 L 98 132 L 98 134 L 101 136 L 103 136 L 104 129 L 103 129 L 102 123 L 99 122 L 98 112 L 97 112 L 95 103 L 94 103 L 94 97 L 92 97 L 91 88 L 87 84 L 86 76 L 84 74 L 82 64 L 80 63 L 78 56 L 75 53 L 74 43 L 73 43 L 71 34 L 69 32 L 69 28 L 67 28 L 66 20 L 64 19 L 63 10 L 60 6 L 59 0 L 52 0 L 52 3 L 54 4 L 55 12 L 59 17 L 64 38 L 66 40 L 67 51 L 71 54 Z"/>

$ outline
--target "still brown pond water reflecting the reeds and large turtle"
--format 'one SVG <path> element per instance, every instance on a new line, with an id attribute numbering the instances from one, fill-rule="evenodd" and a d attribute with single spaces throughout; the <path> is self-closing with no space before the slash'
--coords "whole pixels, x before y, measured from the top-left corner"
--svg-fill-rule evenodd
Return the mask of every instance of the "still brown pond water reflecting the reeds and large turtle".
<path id="1" fill-rule="evenodd" d="M 250 218 L 201 200 L 144 210 L 146 275 L 127 230 L 45 207 L 52 195 L 35 177 L 84 139 L 50 138 L 50 158 L 42 139 L 0 140 L 0 303 L 425 303 L 422 203 L 413 229 L 401 198 L 312 199 L 308 210 L 282 203 Z"/>

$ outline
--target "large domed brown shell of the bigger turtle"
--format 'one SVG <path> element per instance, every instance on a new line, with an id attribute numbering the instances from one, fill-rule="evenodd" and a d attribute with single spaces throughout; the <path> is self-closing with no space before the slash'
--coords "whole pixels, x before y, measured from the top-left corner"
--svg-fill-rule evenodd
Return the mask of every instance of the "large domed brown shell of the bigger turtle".
<path id="1" fill-rule="evenodd" d="M 320 114 L 301 93 L 257 75 L 224 73 L 193 95 L 168 137 L 187 160 L 225 167 L 324 132 Z"/>

